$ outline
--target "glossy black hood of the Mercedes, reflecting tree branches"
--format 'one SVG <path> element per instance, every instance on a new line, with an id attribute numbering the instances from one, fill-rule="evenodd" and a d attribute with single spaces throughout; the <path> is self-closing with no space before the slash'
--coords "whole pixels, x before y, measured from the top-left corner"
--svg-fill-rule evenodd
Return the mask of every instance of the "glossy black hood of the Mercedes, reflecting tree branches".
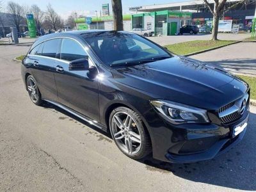
<path id="1" fill-rule="evenodd" d="M 155 99 L 208 109 L 241 97 L 247 89 L 243 81 L 225 70 L 181 56 L 118 68 L 115 72 L 117 81 L 150 93 Z"/>

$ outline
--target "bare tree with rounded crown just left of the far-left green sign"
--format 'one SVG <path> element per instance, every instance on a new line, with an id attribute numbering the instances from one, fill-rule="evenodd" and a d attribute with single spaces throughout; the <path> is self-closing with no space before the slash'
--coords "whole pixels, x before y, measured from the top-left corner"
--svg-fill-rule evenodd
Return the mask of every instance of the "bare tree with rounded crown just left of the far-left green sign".
<path id="1" fill-rule="evenodd" d="M 22 6 L 20 6 L 18 3 L 14 3 L 13 1 L 10 1 L 7 4 L 7 10 L 11 15 L 13 24 L 15 25 L 15 27 L 17 28 L 17 30 L 19 32 L 20 31 L 20 23 L 23 20 L 22 15 L 24 15 Z"/>

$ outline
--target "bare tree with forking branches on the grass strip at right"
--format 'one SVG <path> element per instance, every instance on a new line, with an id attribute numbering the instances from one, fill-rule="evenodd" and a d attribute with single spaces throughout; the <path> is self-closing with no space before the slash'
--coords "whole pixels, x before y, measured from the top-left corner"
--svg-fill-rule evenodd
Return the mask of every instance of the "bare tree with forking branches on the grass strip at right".
<path id="1" fill-rule="evenodd" d="M 212 8 L 212 5 L 210 3 L 210 0 L 204 0 L 204 3 L 209 8 L 210 12 L 213 15 L 213 22 L 212 22 L 212 40 L 218 40 L 218 27 L 219 27 L 219 20 L 221 15 L 226 12 L 227 10 L 230 10 L 234 7 L 236 7 L 239 4 L 245 3 L 247 0 L 239 1 L 234 4 L 227 3 L 227 0 L 214 0 L 214 7 Z"/>

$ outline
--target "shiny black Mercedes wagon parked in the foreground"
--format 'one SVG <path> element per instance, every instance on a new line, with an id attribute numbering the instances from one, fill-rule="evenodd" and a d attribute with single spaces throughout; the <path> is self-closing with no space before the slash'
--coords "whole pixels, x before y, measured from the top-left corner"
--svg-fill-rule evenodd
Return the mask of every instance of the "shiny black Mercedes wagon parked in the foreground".
<path id="1" fill-rule="evenodd" d="M 50 102 L 109 131 L 133 159 L 150 154 L 172 163 L 212 159 L 246 131 L 247 83 L 134 33 L 42 36 L 21 71 L 34 104 Z"/>

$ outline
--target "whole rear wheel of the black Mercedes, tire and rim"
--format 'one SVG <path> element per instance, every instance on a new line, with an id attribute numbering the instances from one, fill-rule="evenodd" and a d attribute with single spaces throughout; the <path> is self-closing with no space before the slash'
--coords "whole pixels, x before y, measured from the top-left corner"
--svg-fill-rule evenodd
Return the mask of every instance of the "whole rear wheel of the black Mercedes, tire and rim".
<path id="1" fill-rule="evenodd" d="M 35 78 L 31 75 L 29 75 L 26 79 L 26 88 L 28 90 L 31 101 L 36 106 L 40 106 L 43 103 L 41 93 L 38 89 Z"/>

